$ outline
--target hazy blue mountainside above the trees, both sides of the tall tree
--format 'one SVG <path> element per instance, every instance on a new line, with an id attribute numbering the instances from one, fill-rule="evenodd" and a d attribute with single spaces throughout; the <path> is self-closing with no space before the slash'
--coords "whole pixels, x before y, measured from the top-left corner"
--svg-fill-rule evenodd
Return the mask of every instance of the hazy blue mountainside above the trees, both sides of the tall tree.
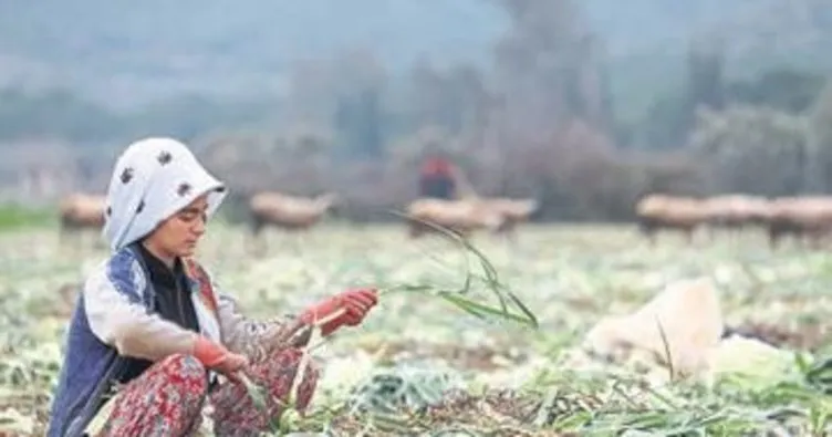
<path id="1" fill-rule="evenodd" d="M 768 15 L 759 11 L 770 9 L 772 1 L 582 4 L 621 77 L 649 82 L 678 71 L 691 32 L 727 30 L 735 45 L 756 34 L 748 23 L 759 22 L 763 29 Z M 420 54 L 438 63 L 488 65 L 491 43 L 507 25 L 497 3 L 0 0 L 0 85 L 65 86 L 114 104 L 189 91 L 262 95 L 282 90 L 287 69 L 295 60 L 355 46 L 372 48 L 394 71 L 409 67 Z M 814 15 L 820 24 L 830 21 Z"/>

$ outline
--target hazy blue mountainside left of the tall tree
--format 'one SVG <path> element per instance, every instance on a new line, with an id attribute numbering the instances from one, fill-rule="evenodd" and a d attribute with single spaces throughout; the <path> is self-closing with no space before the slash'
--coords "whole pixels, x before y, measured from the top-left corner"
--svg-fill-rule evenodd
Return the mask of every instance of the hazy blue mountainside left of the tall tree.
<path id="1" fill-rule="evenodd" d="M 123 101 L 280 91 L 293 61 L 353 46 L 394 67 L 419 53 L 482 62 L 501 21 L 476 0 L 13 3 L 0 1 L 1 81 Z"/>

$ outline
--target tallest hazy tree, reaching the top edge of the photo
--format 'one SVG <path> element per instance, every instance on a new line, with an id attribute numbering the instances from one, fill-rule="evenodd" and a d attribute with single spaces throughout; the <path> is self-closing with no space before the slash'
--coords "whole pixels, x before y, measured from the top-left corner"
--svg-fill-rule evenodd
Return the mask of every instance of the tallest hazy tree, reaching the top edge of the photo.
<path id="1" fill-rule="evenodd" d="M 512 135 L 551 135 L 572 118 L 595 128 L 605 86 L 597 44 L 570 0 L 501 0 L 509 31 L 498 40 L 496 70 L 505 100 L 500 115 Z"/>

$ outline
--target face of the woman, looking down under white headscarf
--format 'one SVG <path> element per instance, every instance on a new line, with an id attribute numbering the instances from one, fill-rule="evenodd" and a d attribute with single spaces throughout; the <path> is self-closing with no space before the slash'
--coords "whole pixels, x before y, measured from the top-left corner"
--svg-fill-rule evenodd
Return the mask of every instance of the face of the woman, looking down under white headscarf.
<path id="1" fill-rule="evenodd" d="M 169 258 L 190 257 L 205 233 L 208 197 L 202 195 L 180 209 L 147 238 L 147 244 Z"/>

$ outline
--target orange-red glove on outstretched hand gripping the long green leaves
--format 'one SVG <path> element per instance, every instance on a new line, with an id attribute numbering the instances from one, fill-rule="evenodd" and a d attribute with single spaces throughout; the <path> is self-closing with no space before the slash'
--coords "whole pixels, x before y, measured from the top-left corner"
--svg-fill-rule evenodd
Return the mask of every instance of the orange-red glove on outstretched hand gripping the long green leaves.
<path id="1" fill-rule="evenodd" d="M 314 323 L 343 310 L 341 315 L 321 326 L 321 334 L 326 336 L 343 325 L 358 325 L 376 303 L 378 294 L 375 289 L 347 290 L 311 306 L 301 314 L 301 321 Z"/>

